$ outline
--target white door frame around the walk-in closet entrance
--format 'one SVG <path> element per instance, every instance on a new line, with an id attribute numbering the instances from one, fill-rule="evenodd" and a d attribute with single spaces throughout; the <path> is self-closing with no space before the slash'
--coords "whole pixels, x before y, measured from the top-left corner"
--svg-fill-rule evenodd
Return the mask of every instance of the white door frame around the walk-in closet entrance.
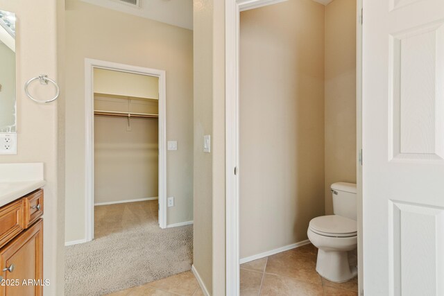
<path id="1" fill-rule="evenodd" d="M 85 58 L 85 234 L 94 238 L 94 68 L 159 78 L 159 226 L 167 228 L 167 83 L 163 70 Z"/>

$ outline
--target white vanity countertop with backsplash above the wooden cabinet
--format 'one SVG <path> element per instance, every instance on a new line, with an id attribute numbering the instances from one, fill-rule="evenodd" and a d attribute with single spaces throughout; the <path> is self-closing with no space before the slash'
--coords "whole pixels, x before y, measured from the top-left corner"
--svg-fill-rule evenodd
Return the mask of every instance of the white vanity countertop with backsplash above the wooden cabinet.
<path id="1" fill-rule="evenodd" d="M 43 164 L 0 164 L 0 207 L 44 186 Z"/>

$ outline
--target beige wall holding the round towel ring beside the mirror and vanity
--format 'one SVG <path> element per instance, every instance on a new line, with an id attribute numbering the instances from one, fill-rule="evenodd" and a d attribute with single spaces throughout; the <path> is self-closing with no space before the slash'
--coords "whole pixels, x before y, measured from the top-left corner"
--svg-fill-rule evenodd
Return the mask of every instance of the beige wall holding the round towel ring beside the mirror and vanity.
<path id="1" fill-rule="evenodd" d="M 24 94 L 23 85 L 39 73 L 62 82 L 58 73 L 58 24 L 63 16 L 58 15 L 62 3 L 56 0 L 0 0 L 0 7 L 17 15 L 17 155 L 1 155 L 1 163 L 43 162 L 44 178 L 44 275 L 51 281 L 44 287 L 44 295 L 63 295 L 64 257 L 63 257 L 63 195 L 58 187 L 62 180 L 58 177 L 58 139 L 63 126 L 58 126 L 58 104 L 37 104 Z M 60 6 L 58 6 L 60 5 Z M 58 19 L 59 17 L 59 23 Z M 59 27 L 60 28 L 60 27 Z M 50 98 L 51 87 L 41 87 L 35 96 Z M 58 132 L 60 134 L 58 135 Z M 61 184 L 61 185 L 60 185 Z"/>

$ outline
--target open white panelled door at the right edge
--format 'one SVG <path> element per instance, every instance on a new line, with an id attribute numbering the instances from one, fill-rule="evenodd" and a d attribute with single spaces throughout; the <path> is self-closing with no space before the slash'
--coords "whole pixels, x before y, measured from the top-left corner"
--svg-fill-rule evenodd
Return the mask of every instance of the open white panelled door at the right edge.
<path id="1" fill-rule="evenodd" d="M 444 0 L 364 0 L 364 292 L 444 295 Z"/>

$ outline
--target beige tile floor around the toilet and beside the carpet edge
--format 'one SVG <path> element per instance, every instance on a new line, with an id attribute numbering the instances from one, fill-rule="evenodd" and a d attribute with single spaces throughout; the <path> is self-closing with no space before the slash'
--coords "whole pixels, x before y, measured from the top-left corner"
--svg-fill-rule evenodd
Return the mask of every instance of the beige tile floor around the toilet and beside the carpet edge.
<path id="1" fill-rule="evenodd" d="M 356 296 L 357 277 L 345 283 L 327 281 L 316 272 L 317 249 L 304 245 L 241 265 L 241 296 Z M 108 296 L 203 295 L 194 275 L 183 272 Z"/>

